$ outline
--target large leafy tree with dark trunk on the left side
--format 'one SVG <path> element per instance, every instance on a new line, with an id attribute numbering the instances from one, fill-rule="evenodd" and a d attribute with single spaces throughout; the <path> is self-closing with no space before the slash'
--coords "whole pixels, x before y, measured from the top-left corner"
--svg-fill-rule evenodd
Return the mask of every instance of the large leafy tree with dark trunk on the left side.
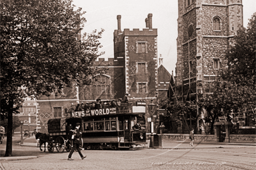
<path id="1" fill-rule="evenodd" d="M 12 156 L 13 113 L 25 97 L 90 83 L 103 30 L 84 34 L 71 0 L 1 1 L 1 115 L 8 118 L 5 156 Z M 14 107 L 13 107 L 14 106 Z"/>

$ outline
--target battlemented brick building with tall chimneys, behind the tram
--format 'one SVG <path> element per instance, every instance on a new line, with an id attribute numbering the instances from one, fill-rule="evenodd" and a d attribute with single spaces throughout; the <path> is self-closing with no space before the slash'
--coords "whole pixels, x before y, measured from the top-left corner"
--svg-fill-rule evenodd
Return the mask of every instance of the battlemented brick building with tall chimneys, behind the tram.
<path id="1" fill-rule="evenodd" d="M 65 109 L 71 105 L 86 102 L 95 103 L 124 98 L 128 93 L 130 102 L 143 100 L 157 104 L 158 95 L 158 57 L 157 57 L 157 29 L 152 28 L 152 14 L 146 18 L 146 28 L 124 29 L 121 31 L 121 15 L 117 15 L 117 29 L 114 30 L 114 58 L 99 58 L 94 62 L 96 67 L 108 68 L 102 75 L 94 75 L 92 84 L 75 89 L 65 88 L 66 97 L 52 94 L 50 97 L 42 96 L 38 102 L 38 120 L 40 131 L 47 131 L 47 120 L 65 116 Z M 167 78 L 169 72 L 161 66 L 161 77 Z M 167 88 L 166 88 L 167 89 Z M 161 93 L 167 97 L 167 90 Z M 166 93 L 166 94 L 165 94 Z M 164 94 L 164 95 L 162 95 Z M 146 116 L 149 115 L 147 108 Z M 157 120 L 156 120 L 157 121 Z M 149 127 L 147 127 L 149 128 Z"/>

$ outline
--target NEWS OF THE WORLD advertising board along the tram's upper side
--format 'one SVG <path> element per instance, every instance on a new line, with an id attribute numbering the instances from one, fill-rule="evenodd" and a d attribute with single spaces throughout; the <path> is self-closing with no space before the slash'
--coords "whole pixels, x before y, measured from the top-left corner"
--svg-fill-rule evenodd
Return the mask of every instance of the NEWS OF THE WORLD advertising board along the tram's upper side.
<path id="1" fill-rule="evenodd" d="M 90 117 L 90 116 L 103 116 L 108 114 L 126 114 L 132 113 L 131 106 L 125 107 L 110 107 L 104 109 L 91 109 L 88 111 L 73 111 L 71 112 L 71 117 Z"/>

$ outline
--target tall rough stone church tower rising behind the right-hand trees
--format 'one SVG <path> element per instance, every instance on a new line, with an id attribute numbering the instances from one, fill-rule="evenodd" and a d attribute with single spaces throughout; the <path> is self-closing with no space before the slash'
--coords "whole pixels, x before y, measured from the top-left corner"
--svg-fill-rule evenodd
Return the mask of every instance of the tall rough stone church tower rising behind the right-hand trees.
<path id="1" fill-rule="evenodd" d="M 176 95 L 211 93 L 225 52 L 243 26 L 241 0 L 178 0 Z"/>

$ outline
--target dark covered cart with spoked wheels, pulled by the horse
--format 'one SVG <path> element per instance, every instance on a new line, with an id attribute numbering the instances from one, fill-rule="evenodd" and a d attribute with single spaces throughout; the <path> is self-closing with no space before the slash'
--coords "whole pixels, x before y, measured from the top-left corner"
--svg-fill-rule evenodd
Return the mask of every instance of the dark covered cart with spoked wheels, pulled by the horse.
<path id="1" fill-rule="evenodd" d="M 47 141 L 47 149 L 50 153 L 54 148 L 60 153 L 71 150 L 71 139 L 67 125 L 72 125 L 75 128 L 76 123 L 81 123 L 81 118 L 55 118 L 47 122 L 49 141 Z"/>

